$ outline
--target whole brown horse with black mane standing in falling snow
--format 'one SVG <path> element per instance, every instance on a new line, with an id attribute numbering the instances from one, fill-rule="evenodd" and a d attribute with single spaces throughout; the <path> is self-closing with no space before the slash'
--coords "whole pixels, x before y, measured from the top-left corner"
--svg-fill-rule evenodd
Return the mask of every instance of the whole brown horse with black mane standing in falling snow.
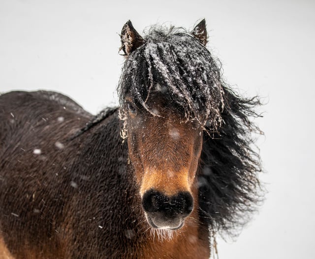
<path id="1" fill-rule="evenodd" d="M 260 101 L 224 82 L 205 20 L 120 37 L 118 107 L 0 95 L 1 258 L 209 258 L 256 210 Z"/>

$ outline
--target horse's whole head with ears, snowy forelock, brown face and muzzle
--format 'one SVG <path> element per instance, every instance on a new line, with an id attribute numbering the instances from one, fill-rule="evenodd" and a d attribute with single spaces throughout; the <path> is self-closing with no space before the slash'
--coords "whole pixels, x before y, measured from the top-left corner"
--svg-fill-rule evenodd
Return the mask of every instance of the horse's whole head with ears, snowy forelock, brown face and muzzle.
<path id="1" fill-rule="evenodd" d="M 222 89 L 202 20 L 190 33 L 123 27 L 119 84 L 123 137 L 148 223 L 179 229 L 196 204 L 203 129 L 220 121 Z"/>

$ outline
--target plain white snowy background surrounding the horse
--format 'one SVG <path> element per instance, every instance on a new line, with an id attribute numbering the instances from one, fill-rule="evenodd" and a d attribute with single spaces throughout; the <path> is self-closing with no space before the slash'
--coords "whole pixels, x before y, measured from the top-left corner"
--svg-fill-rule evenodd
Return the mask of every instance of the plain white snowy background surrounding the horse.
<path id="1" fill-rule="evenodd" d="M 228 82 L 268 102 L 258 124 L 269 192 L 234 242 L 218 240 L 219 257 L 314 259 L 314 0 L 0 0 L 0 92 L 55 90 L 96 113 L 117 100 L 128 19 L 141 33 L 200 18 Z"/>

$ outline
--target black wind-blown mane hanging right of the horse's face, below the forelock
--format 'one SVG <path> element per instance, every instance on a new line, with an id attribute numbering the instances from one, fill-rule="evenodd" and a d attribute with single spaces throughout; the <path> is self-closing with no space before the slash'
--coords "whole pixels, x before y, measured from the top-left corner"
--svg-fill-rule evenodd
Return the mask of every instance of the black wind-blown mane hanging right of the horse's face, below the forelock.
<path id="1" fill-rule="evenodd" d="M 262 201 L 257 173 L 260 157 L 252 134 L 262 134 L 251 121 L 257 117 L 257 97 L 244 99 L 224 88 L 225 109 L 219 131 L 203 134 L 198 175 L 201 220 L 214 230 L 231 230 L 248 222 L 256 204 Z M 209 130 L 206 127 L 206 130 Z"/>

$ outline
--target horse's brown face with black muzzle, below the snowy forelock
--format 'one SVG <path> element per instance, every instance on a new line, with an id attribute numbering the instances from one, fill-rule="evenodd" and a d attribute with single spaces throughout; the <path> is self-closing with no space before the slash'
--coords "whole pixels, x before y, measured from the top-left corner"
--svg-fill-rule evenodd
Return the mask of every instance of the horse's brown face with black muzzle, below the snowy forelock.
<path id="1" fill-rule="evenodd" d="M 152 227 L 178 229 L 194 206 L 202 128 L 183 122 L 162 95 L 152 94 L 146 104 L 153 114 L 126 98 L 128 149 L 142 207 Z"/>

